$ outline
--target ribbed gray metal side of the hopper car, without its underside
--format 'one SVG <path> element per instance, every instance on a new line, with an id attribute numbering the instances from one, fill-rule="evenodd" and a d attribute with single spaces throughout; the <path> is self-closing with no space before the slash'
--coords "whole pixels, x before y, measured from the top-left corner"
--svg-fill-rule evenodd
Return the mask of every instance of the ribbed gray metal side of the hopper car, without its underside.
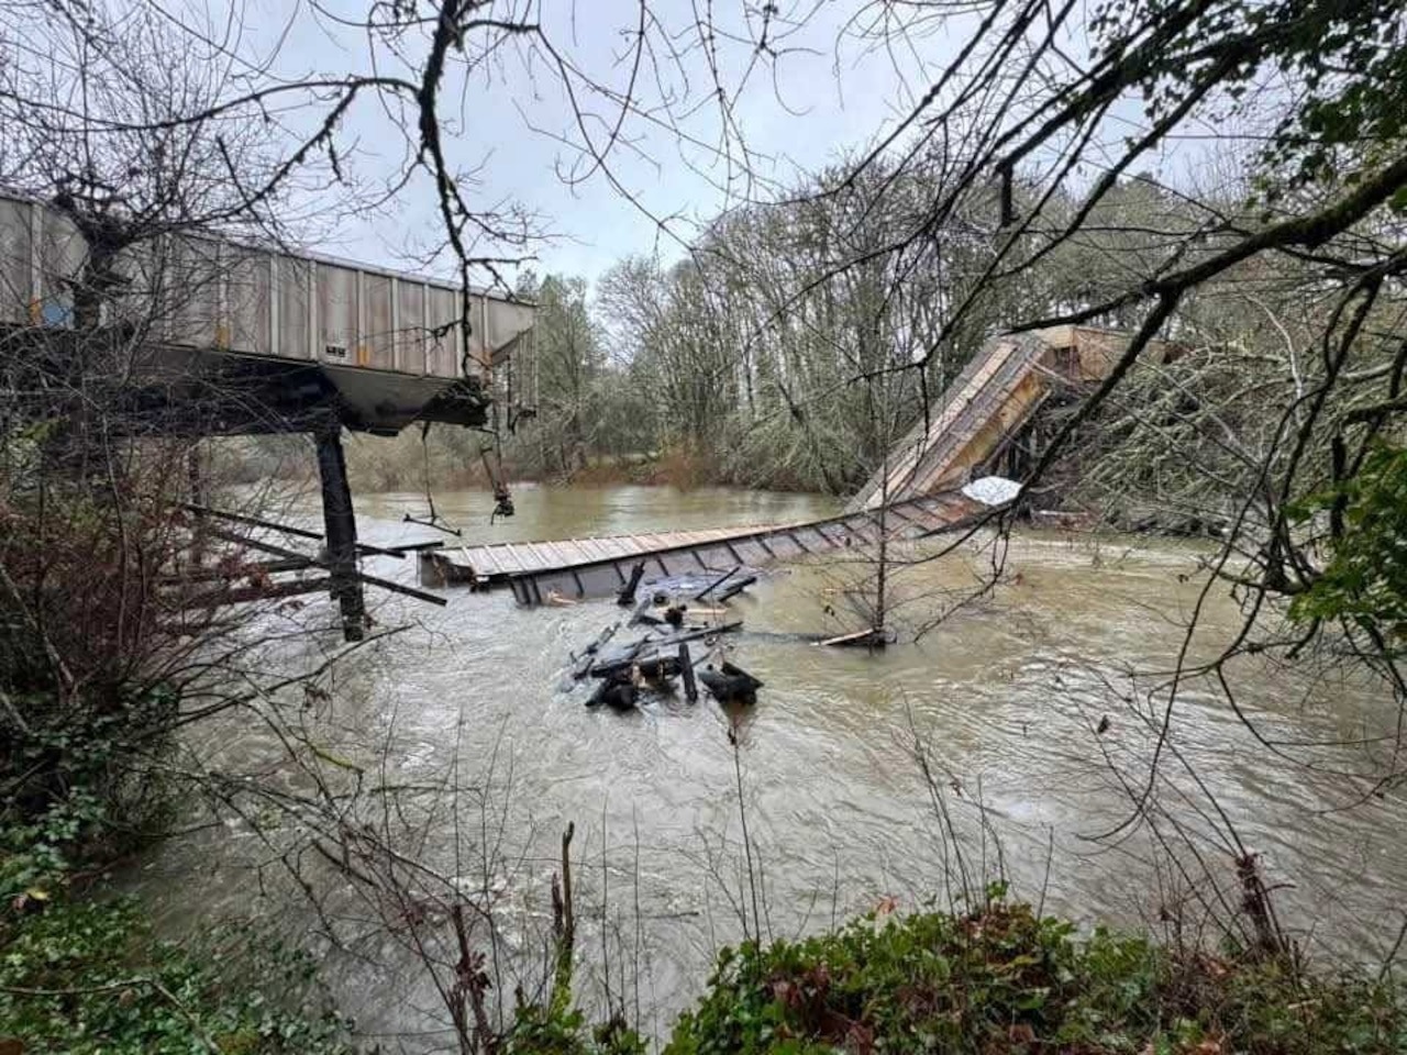
<path id="1" fill-rule="evenodd" d="M 72 325 L 86 253 L 66 217 L 0 194 L 0 322 Z M 454 286 L 207 238 L 162 238 L 118 266 L 127 281 L 111 311 L 184 347 L 487 380 L 495 353 L 532 328 L 532 305 L 476 291 L 464 356 Z"/>

